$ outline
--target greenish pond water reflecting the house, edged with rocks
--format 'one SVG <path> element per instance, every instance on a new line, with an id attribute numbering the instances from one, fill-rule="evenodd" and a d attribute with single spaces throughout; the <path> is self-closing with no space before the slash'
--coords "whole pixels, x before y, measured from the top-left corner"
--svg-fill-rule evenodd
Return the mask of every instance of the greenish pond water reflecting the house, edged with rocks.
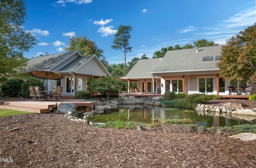
<path id="1" fill-rule="evenodd" d="M 236 116 L 237 117 L 237 116 Z M 161 108 L 152 106 L 119 107 L 107 109 L 103 113 L 90 116 L 94 123 L 107 123 L 120 119 L 120 121 L 131 121 L 133 123 L 154 123 L 157 121 L 168 121 L 172 123 L 190 123 L 206 127 L 211 126 L 233 126 L 242 124 L 256 124 L 256 119 L 239 119 L 227 113 L 197 112 L 191 109 Z M 256 118 L 256 117 L 255 117 Z"/>

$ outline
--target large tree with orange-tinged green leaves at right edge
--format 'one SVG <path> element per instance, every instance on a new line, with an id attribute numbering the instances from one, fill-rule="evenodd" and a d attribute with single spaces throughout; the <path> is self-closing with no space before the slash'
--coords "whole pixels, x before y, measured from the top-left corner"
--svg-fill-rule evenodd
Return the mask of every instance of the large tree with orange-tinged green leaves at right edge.
<path id="1" fill-rule="evenodd" d="M 256 23 L 226 42 L 217 63 L 220 74 L 229 81 L 256 83 Z"/>

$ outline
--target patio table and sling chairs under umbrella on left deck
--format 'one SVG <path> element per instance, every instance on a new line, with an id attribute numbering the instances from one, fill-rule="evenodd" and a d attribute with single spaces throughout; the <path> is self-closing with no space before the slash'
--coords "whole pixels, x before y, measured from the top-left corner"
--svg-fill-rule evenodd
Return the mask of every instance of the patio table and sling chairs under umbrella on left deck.
<path id="1" fill-rule="evenodd" d="M 52 87 L 52 91 L 40 91 L 39 86 L 28 86 L 29 89 L 29 96 L 32 97 L 33 101 L 37 99 L 44 99 L 46 101 L 58 100 L 62 98 L 62 86 Z"/>

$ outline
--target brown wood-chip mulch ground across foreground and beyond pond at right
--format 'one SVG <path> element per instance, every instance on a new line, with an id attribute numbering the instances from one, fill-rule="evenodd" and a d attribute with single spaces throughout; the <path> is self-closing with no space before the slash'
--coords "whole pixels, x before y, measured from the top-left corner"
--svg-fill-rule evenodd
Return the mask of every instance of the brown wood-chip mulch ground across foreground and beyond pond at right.
<path id="1" fill-rule="evenodd" d="M 224 101 L 218 100 L 214 105 L 221 106 Z M 251 106 L 255 104 L 248 105 Z M 13 128 L 16 129 L 9 131 Z M 255 168 L 256 141 L 228 138 L 229 135 L 205 134 L 176 125 L 144 131 L 97 128 L 57 114 L 0 117 L 0 166 Z"/>

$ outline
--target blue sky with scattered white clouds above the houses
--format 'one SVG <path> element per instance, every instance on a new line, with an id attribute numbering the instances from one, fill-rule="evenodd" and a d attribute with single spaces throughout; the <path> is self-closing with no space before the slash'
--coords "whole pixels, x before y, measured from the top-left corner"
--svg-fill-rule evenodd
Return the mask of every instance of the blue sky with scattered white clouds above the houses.
<path id="1" fill-rule="evenodd" d="M 120 25 L 132 26 L 126 62 L 163 47 L 202 38 L 219 45 L 256 22 L 256 0 L 24 0 L 23 30 L 38 39 L 25 57 L 65 52 L 69 37 L 87 36 L 110 64 L 124 62 L 111 48 Z"/>

